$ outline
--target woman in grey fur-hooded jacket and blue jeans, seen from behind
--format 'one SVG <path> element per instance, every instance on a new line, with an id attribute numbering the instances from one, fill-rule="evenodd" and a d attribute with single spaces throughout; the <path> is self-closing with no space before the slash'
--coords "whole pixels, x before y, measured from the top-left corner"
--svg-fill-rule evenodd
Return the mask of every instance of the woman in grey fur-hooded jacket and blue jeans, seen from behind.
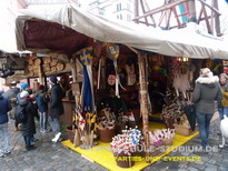
<path id="1" fill-rule="evenodd" d="M 192 101 L 196 104 L 196 115 L 204 151 L 208 145 L 210 120 L 216 112 L 216 101 L 221 99 L 222 92 L 219 78 L 214 76 L 210 69 L 201 69 L 200 76 L 196 80 Z"/>

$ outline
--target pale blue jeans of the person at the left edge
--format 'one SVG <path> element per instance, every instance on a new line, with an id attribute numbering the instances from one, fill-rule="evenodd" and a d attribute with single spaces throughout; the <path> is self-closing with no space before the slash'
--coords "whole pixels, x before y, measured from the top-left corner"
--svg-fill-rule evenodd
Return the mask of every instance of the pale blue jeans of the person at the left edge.
<path id="1" fill-rule="evenodd" d="M 8 134 L 8 123 L 0 124 L 0 137 L 2 135 L 2 139 L 0 139 L 0 154 L 2 154 L 4 151 L 10 151 L 10 140 Z M 4 143 L 3 150 L 1 149 L 2 142 Z"/>

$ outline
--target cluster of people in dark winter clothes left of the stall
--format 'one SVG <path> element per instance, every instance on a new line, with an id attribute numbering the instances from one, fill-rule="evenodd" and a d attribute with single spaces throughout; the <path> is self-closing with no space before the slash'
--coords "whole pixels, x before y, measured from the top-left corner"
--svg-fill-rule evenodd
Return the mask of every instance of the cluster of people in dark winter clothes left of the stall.
<path id="1" fill-rule="evenodd" d="M 49 84 L 51 86 L 50 95 L 46 93 L 47 88 L 44 86 L 40 84 L 39 89 L 34 91 L 26 82 L 20 84 L 20 92 L 14 101 L 8 98 L 7 93 L 4 95 L 4 92 L 0 92 L 0 158 L 11 152 L 8 115 L 14 118 L 14 130 L 21 131 L 28 151 L 36 149 L 32 143 L 39 141 L 34 138 L 36 119 L 39 121 L 39 131 L 41 133 L 53 131 L 54 137 L 51 141 L 59 141 L 61 137 L 59 118 L 63 114 L 63 91 L 58 83 L 57 77 L 51 77 Z M 51 130 L 48 129 L 48 123 Z M 1 147 L 3 148 L 1 149 Z"/>

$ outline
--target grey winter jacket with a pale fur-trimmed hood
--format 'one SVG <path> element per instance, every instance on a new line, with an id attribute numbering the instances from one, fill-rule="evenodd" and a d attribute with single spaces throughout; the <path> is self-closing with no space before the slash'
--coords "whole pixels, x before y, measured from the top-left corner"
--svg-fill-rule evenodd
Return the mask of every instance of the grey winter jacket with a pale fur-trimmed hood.
<path id="1" fill-rule="evenodd" d="M 194 103 L 196 103 L 196 111 L 200 113 L 215 113 L 215 101 L 222 99 L 222 92 L 219 84 L 218 77 L 201 78 L 196 80 L 194 90 Z"/>

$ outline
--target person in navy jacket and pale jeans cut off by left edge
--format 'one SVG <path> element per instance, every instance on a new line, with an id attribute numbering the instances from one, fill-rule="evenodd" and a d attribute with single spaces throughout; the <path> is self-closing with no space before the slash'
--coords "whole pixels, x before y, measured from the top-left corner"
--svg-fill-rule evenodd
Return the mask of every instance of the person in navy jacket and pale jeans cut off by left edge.
<path id="1" fill-rule="evenodd" d="M 2 97 L 2 92 L 0 92 L 0 134 L 3 135 L 3 140 L 0 140 L 0 148 L 1 148 L 1 142 L 3 141 L 4 143 L 4 149 L 0 149 L 0 158 L 2 158 L 4 154 L 10 153 L 10 141 L 9 141 L 9 134 L 8 134 L 8 114 L 12 109 L 9 100 L 4 97 Z"/>

